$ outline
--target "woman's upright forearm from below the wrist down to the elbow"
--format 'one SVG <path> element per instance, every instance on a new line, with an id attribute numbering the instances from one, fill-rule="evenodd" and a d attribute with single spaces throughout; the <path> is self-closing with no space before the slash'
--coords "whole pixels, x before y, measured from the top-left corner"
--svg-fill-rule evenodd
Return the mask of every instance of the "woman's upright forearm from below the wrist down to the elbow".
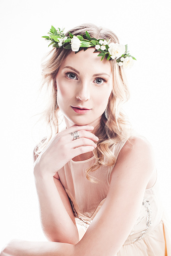
<path id="1" fill-rule="evenodd" d="M 35 175 L 35 183 L 41 224 L 47 238 L 56 242 L 76 243 L 77 227 L 65 209 L 53 177 Z"/>

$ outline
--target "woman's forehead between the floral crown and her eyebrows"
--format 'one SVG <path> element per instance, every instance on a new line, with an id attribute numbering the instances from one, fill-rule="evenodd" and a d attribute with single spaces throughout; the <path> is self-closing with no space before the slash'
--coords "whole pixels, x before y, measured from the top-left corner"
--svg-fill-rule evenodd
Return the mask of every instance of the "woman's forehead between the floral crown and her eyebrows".
<path id="1" fill-rule="evenodd" d="M 86 51 L 81 50 L 78 53 L 72 51 L 65 60 L 63 60 L 60 70 L 64 69 L 66 66 L 71 66 L 80 73 L 107 73 L 110 75 L 111 66 L 109 61 L 106 58 L 101 61 L 101 57 L 97 56 L 100 52 L 94 52 L 94 50 L 94 47 L 90 47 Z"/>

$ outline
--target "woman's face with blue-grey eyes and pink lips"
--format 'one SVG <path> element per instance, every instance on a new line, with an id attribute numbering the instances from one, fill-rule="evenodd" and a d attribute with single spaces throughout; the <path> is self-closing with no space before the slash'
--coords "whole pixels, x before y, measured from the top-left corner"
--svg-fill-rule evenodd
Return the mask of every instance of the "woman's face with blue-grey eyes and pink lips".
<path id="1" fill-rule="evenodd" d="M 94 48 L 71 52 L 56 76 L 57 102 L 67 127 L 99 123 L 112 90 L 111 66 Z"/>

